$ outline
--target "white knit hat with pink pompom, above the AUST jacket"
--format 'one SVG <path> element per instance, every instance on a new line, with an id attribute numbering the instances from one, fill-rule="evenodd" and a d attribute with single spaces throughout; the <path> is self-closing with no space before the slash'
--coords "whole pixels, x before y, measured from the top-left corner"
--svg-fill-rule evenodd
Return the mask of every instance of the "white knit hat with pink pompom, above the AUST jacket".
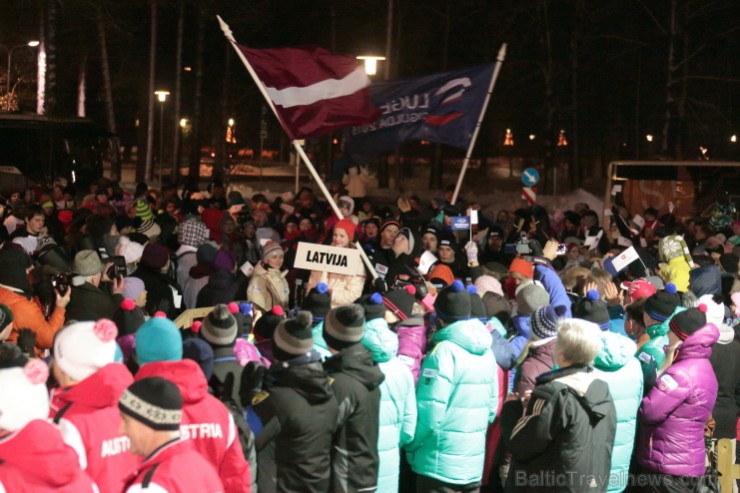
<path id="1" fill-rule="evenodd" d="M 74 322 L 62 328 L 54 338 L 54 364 L 78 382 L 116 357 L 118 329 L 112 321 Z"/>

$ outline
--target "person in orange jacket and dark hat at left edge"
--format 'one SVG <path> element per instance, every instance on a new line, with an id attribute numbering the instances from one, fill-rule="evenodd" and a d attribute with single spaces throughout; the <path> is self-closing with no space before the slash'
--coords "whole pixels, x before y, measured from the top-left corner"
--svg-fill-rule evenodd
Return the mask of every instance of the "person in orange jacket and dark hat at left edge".
<path id="1" fill-rule="evenodd" d="M 41 355 L 51 347 L 54 334 L 64 325 L 70 291 L 63 294 L 57 291 L 54 311 L 47 321 L 28 279 L 31 267 L 30 257 L 21 250 L 0 250 L 0 303 L 10 308 L 14 320 L 8 342 L 18 340 L 19 329 L 31 329 L 36 335 L 37 353 Z"/>

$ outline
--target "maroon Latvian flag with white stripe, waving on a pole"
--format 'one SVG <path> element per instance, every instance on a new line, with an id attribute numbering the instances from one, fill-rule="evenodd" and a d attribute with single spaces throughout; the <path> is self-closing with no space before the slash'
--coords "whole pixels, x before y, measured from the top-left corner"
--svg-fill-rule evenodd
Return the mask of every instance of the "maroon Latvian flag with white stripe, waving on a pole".
<path id="1" fill-rule="evenodd" d="M 370 79 L 351 56 L 323 48 L 255 50 L 238 45 L 267 89 L 291 139 L 366 125 L 380 116 Z"/>

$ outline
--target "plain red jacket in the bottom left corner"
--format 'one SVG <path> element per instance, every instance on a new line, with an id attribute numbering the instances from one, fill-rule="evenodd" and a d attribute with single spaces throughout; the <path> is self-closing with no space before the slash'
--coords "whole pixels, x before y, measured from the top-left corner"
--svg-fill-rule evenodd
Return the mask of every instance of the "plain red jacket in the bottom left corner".
<path id="1" fill-rule="evenodd" d="M 0 491 L 87 493 L 98 491 L 77 455 L 54 425 L 35 419 L 0 438 Z"/>

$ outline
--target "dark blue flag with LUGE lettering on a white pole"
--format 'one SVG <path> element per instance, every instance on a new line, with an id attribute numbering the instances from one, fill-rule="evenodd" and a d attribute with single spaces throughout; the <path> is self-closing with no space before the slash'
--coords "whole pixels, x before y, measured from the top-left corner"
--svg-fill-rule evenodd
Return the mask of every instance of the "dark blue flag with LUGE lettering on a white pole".
<path id="1" fill-rule="evenodd" d="M 370 125 L 345 131 L 344 157 L 366 163 L 409 140 L 467 148 L 494 66 L 373 83 L 370 97 L 383 114 Z"/>

